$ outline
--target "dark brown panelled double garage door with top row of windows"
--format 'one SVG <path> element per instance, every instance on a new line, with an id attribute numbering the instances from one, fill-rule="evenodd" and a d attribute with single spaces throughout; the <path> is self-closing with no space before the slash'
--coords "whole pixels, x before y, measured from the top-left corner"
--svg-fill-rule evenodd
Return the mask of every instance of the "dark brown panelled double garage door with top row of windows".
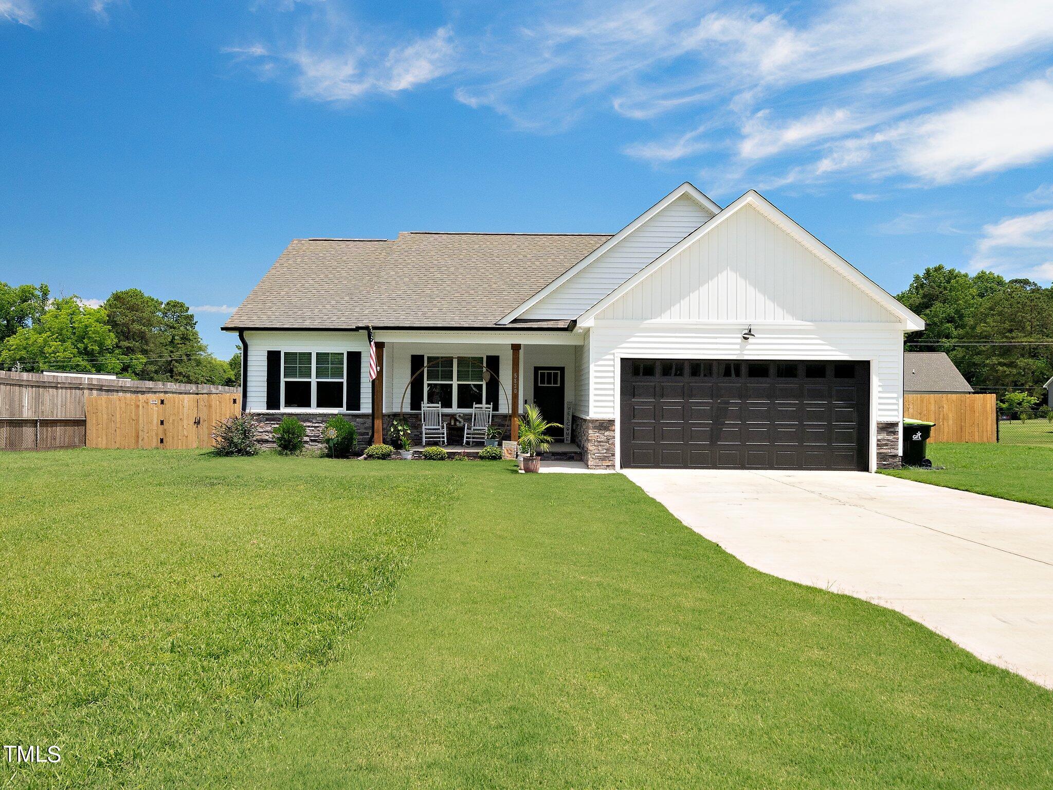
<path id="1" fill-rule="evenodd" d="M 622 359 L 623 467 L 866 470 L 870 362 Z"/>

